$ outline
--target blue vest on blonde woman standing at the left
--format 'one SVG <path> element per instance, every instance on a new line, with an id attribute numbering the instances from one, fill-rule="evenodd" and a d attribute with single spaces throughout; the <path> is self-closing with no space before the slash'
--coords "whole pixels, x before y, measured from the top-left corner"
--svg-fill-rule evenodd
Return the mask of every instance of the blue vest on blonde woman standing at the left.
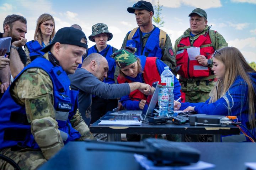
<path id="1" fill-rule="evenodd" d="M 38 41 L 29 41 L 26 43 L 26 46 L 28 48 L 28 51 L 30 52 L 31 61 L 36 59 L 38 56 L 42 57 L 44 55 L 44 52 L 40 51 L 41 49 L 43 49 L 43 47 L 41 47 Z"/>

